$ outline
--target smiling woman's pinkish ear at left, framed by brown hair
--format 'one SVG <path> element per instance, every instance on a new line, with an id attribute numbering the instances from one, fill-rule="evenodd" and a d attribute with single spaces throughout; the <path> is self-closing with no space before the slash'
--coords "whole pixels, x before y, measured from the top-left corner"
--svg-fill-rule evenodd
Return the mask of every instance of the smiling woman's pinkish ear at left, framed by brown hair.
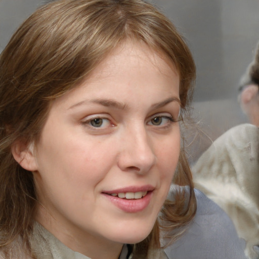
<path id="1" fill-rule="evenodd" d="M 14 159 L 26 170 L 36 171 L 37 163 L 34 156 L 34 144 L 25 144 L 18 140 L 11 146 L 11 151 Z"/>

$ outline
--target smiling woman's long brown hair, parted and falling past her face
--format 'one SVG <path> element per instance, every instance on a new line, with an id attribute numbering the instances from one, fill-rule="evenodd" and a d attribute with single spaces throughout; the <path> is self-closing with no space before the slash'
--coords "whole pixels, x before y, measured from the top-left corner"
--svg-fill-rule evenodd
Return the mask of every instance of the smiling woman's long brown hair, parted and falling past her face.
<path id="1" fill-rule="evenodd" d="M 17 140 L 37 143 L 51 100 L 70 91 L 126 39 L 145 42 L 174 63 L 180 74 L 181 116 L 193 93 L 195 64 L 175 26 L 141 0 L 59 0 L 36 10 L 0 56 L 0 246 L 21 237 L 30 247 L 37 204 L 33 177 L 13 158 Z M 181 152 L 174 183 L 190 186 L 166 201 L 163 219 L 173 229 L 187 224 L 196 203 L 188 161 Z M 188 205 L 183 202 L 188 197 Z M 159 224 L 139 247 L 159 247 Z"/>

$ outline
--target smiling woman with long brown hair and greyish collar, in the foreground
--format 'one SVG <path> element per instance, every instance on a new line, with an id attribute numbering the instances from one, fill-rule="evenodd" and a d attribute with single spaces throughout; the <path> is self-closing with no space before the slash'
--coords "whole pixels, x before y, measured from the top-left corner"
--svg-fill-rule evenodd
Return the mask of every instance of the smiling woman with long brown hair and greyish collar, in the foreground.
<path id="1" fill-rule="evenodd" d="M 2 256 L 167 258 L 160 230 L 176 239 L 196 210 L 179 126 L 194 78 L 182 37 L 140 0 L 32 14 L 0 58 Z"/>

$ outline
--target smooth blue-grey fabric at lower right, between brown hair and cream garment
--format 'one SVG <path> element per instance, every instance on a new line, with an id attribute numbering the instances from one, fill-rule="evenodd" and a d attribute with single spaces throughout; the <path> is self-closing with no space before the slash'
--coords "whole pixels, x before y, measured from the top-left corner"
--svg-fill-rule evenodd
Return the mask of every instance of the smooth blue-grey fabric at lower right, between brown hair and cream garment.
<path id="1" fill-rule="evenodd" d="M 164 251 L 174 259 L 244 259 L 245 243 L 239 239 L 228 215 L 202 192 L 195 190 L 197 212 L 185 234 Z"/>

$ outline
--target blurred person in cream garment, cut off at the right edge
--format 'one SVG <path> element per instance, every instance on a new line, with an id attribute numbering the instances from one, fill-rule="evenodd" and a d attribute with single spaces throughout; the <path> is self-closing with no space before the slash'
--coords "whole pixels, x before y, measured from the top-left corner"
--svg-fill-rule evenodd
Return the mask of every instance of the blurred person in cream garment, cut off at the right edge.
<path id="1" fill-rule="evenodd" d="M 193 167 L 195 186 L 219 204 L 246 241 L 249 258 L 259 258 L 259 48 L 240 81 L 239 103 L 252 124 L 231 128 Z"/>

